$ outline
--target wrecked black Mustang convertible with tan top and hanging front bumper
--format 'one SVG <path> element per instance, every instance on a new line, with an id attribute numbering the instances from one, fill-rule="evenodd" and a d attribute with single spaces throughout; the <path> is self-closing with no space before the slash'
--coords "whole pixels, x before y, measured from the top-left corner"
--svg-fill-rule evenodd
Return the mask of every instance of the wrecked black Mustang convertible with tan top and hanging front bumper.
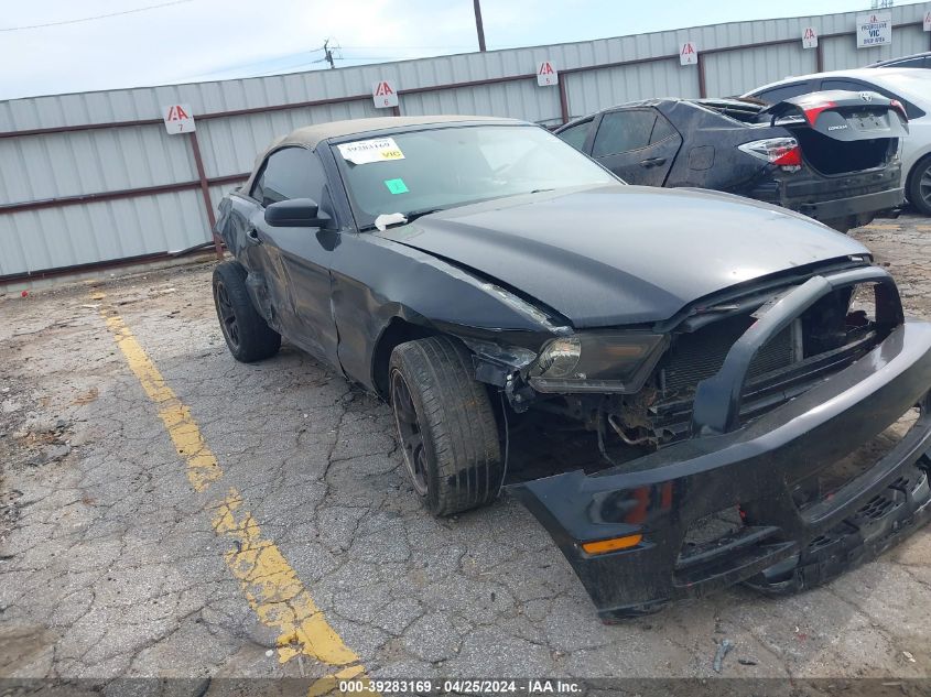
<path id="1" fill-rule="evenodd" d="M 520 121 L 385 118 L 277 141 L 217 231 L 232 355 L 284 336 L 386 399 L 433 513 L 498 495 L 508 420 L 591 431 L 599 467 L 507 490 L 606 621 L 739 581 L 810 587 L 931 513 L 931 325 L 801 215 L 627 186 Z"/>

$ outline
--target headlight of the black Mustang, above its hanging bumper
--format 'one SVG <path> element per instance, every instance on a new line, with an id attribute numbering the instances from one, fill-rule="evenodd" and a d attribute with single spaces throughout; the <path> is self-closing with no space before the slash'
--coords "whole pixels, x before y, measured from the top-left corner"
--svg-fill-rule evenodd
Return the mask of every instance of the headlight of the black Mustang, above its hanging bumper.
<path id="1" fill-rule="evenodd" d="M 668 345 L 665 335 L 583 333 L 550 340 L 530 369 L 538 392 L 637 392 Z"/>

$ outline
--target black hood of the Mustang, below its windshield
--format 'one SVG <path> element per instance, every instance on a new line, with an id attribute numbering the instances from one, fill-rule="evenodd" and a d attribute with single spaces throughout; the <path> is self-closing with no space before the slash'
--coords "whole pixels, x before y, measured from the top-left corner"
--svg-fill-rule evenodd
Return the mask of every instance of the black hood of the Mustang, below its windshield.
<path id="1" fill-rule="evenodd" d="M 376 235 L 490 276 L 576 328 L 668 319 L 745 281 L 868 253 L 782 208 L 623 185 L 462 206 Z"/>

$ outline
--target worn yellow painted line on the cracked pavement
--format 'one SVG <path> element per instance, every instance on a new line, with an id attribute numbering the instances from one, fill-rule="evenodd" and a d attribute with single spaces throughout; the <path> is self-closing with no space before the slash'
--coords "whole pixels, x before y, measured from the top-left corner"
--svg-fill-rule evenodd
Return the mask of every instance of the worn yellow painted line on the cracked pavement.
<path id="1" fill-rule="evenodd" d="M 102 293 L 91 294 L 95 301 L 105 297 Z M 165 431 L 187 465 L 191 486 L 197 492 L 207 491 L 210 484 L 223 478 L 223 468 L 207 447 L 191 410 L 165 383 L 155 363 L 116 309 L 105 304 L 100 315 L 129 369 L 159 407 Z M 212 508 L 215 509 L 214 531 L 230 543 L 230 549 L 225 555 L 230 571 L 239 580 L 259 621 L 278 631 L 279 661 L 285 663 L 295 656 L 307 656 L 337 668 L 313 684 L 311 696 L 336 690 L 339 679 L 353 677 L 367 680 L 359 657 L 326 621 L 278 546 L 262 535 L 239 492 L 230 489 Z"/>

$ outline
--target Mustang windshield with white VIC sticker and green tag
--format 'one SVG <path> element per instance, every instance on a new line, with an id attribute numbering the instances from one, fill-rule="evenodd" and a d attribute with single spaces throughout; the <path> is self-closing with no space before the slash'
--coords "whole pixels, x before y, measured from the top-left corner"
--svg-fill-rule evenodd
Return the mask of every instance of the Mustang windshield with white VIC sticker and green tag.
<path id="1" fill-rule="evenodd" d="M 360 228 L 381 215 L 422 215 L 516 194 L 619 184 L 535 126 L 409 131 L 360 138 L 333 150 Z"/>

